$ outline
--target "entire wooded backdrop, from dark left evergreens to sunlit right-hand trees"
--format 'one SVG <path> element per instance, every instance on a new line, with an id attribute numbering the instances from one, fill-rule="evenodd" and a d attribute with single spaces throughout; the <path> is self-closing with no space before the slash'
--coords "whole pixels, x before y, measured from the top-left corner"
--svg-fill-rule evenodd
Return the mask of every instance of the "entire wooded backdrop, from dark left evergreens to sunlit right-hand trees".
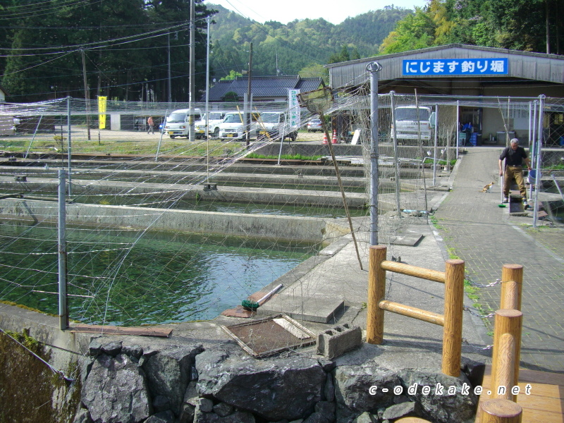
<path id="1" fill-rule="evenodd" d="M 207 16 L 216 79 L 247 70 L 250 43 L 253 75 L 303 77 L 326 77 L 326 63 L 450 43 L 564 50 L 563 0 L 429 0 L 423 9 L 386 6 L 339 25 L 261 24 L 195 4 L 195 98 L 205 87 Z M 85 79 L 92 99 L 187 102 L 188 16 L 187 0 L 3 2 L 0 84 L 11 102 L 85 97 Z"/>

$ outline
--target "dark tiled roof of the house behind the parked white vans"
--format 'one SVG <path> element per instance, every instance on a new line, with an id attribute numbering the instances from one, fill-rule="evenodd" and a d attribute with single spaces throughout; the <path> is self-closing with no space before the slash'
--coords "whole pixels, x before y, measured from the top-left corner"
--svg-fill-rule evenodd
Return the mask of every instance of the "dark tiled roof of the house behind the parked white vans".
<path id="1" fill-rule="evenodd" d="M 321 78 L 300 78 L 292 76 L 257 76 L 252 77 L 251 91 L 255 99 L 260 97 L 287 97 L 288 90 L 299 89 L 302 92 L 316 90 L 321 85 Z M 228 92 L 235 92 L 244 97 L 247 92 L 248 78 L 235 78 L 231 81 L 219 81 L 209 89 L 209 101 L 221 102 Z"/>

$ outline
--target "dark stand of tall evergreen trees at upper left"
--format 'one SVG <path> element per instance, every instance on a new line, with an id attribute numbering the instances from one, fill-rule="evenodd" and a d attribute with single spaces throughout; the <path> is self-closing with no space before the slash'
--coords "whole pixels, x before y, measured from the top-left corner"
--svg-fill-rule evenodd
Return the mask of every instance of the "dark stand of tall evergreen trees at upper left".
<path id="1" fill-rule="evenodd" d="M 205 16 L 196 0 L 196 87 L 205 86 Z M 17 2 L 16 2 L 17 3 Z M 0 27 L 10 55 L 0 62 L 1 84 L 13 100 L 84 96 L 84 50 L 90 97 L 140 99 L 147 90 L 154 100 L 166 100 L 168 29 L 170 37 L 173 99 L 188 100 L 188 31 L 178 16 L 189 16 L 189 4 L 178 0 L 113 0 L 68 4 L 61 0 L 7 7 Z M 4 45 L 6 45 L 4 44 Z M 52 88 L 51 88 L 52 87 Z M 147 94 L 145 94 L 145 99 Z"/>

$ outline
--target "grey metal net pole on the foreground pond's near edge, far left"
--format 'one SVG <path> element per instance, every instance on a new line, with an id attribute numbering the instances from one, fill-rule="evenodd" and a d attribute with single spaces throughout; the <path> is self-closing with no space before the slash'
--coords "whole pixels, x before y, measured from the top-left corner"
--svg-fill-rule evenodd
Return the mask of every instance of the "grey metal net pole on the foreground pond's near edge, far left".
<path id="1" fill-rule="evenodd" d="M 59 169 L 59 328 L 68 328 L 68 307 L 66 302 L 66 171 Z"/>

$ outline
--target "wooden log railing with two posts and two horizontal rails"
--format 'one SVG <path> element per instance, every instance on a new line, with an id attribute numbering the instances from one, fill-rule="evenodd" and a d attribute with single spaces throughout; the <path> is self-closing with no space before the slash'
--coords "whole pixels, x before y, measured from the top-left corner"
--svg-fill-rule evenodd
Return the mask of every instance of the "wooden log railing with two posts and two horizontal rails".
<path id="1" fill-rule="evenodd" d="M 384 311 L 443 326 L 443 356 L 441 371 L 448 376 L 460 376 L 462 353 L 462 307 L 464 300 L 464 262 L 447 260 L 445 271 L 435 271 L 386 260 L 386 247 L 372 245 L 369 252 L 367 342 L 384 341 Z M 444 314 L 437 314 L 408 305 L 384 300 L 386 271 L 415 276 L 445 284 Z"/>

